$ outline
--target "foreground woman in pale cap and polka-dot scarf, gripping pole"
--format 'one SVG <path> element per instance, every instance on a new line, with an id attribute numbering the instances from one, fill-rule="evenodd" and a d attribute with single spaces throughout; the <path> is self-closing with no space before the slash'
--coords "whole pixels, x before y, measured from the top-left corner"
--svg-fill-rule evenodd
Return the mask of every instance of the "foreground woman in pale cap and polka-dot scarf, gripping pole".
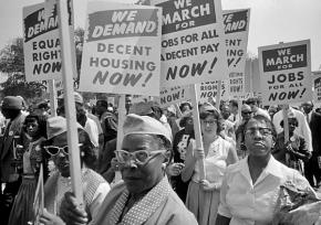
<path id="1" fill-rule="evenodd" d="M 170 135 L 159 121 L 130 114 L 122 150 L 116 150 L 123 181 L 111 190 L 92 224 L 196 225 L 165 176 L 163 163 L 169 151 Z M 62 217 L 66 224 L 81 224 L 86 214 L 72 200 L 66 195 Z"/>

